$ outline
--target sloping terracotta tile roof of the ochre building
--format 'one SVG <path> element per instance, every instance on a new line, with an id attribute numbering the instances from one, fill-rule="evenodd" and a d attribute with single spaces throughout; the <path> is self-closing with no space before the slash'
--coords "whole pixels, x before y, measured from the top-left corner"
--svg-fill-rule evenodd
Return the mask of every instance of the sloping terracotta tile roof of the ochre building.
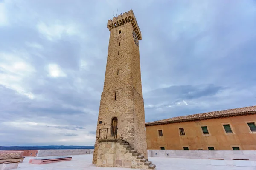
<path id="1" fill-rule="evenodd" d="M 169 118 L 169 119 L 148 122 L 148 123 L 146 123 L 146 126 L 167 124 L 167 123 L 176 123 L 176 122 L 187 122 L 187 121 L 193 121 L 193 120 L 198 120 L 198 119 L 211 119 L 211 118 L 218 118 L 218 117 L 225 117 L 225 116 L 236 116 L 236 115 L 247 114 L 247 113 L 251 113 L 251 112 L 256 113 L 256 106 L 173 117 L 173 118 Z"/>

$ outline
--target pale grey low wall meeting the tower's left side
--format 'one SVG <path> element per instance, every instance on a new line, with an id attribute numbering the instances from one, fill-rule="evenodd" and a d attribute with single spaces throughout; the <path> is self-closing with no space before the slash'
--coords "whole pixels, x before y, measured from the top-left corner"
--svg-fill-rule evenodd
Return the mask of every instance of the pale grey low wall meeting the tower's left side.
<path id="1" fill-rule="evenodd" d="M 93 154 L 94 149 L 52 149 L 38 150 L 37 156 L 68 156 Z"/>

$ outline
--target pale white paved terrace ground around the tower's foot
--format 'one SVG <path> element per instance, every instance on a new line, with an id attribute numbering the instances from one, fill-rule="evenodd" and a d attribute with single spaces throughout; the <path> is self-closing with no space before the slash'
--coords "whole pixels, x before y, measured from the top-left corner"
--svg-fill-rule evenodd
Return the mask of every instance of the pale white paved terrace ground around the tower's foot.
<path id="1" fill-rule="evenodd" d="M 18 170 L 134 170 L 130 168 L 96 167 L 91 163 L 93 155 L 72 155 L 72 157 L 72 161 L 41 165 L 29 164 L 29 159 L 35 157 L 26 157 L 23 163 L 19 164 Z M 149 161 L 156 164 L 156 170 L 256 170 L 256 162 L 252 162 L 254 167 L 236 167 L 212 166 L 209 165 L 208 159 L 149 157 Z"/>

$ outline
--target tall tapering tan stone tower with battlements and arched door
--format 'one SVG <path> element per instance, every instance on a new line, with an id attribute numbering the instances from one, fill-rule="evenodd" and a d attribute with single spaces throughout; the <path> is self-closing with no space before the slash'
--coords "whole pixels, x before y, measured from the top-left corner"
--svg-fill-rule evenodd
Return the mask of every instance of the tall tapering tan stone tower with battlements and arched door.
<path id="1" fill-rule="evenodd" d="M 140 28 L 132 10 L 108 20 L 107 27 L 110 31 L 108 59 L 93 164 L 147 169 L 138 161 L 141 158 L 148 162 L 140 76 Z"/>

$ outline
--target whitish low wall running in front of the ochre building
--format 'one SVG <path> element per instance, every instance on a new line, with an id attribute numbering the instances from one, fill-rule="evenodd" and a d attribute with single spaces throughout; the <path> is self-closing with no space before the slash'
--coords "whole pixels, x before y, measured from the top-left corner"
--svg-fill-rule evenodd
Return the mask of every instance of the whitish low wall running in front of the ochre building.
<path id="1" fill-rule="evenodd" d="M 149 157 L 224 160 L 249 159 L 256 161 L 256 150 L 148 150 Z"/>

